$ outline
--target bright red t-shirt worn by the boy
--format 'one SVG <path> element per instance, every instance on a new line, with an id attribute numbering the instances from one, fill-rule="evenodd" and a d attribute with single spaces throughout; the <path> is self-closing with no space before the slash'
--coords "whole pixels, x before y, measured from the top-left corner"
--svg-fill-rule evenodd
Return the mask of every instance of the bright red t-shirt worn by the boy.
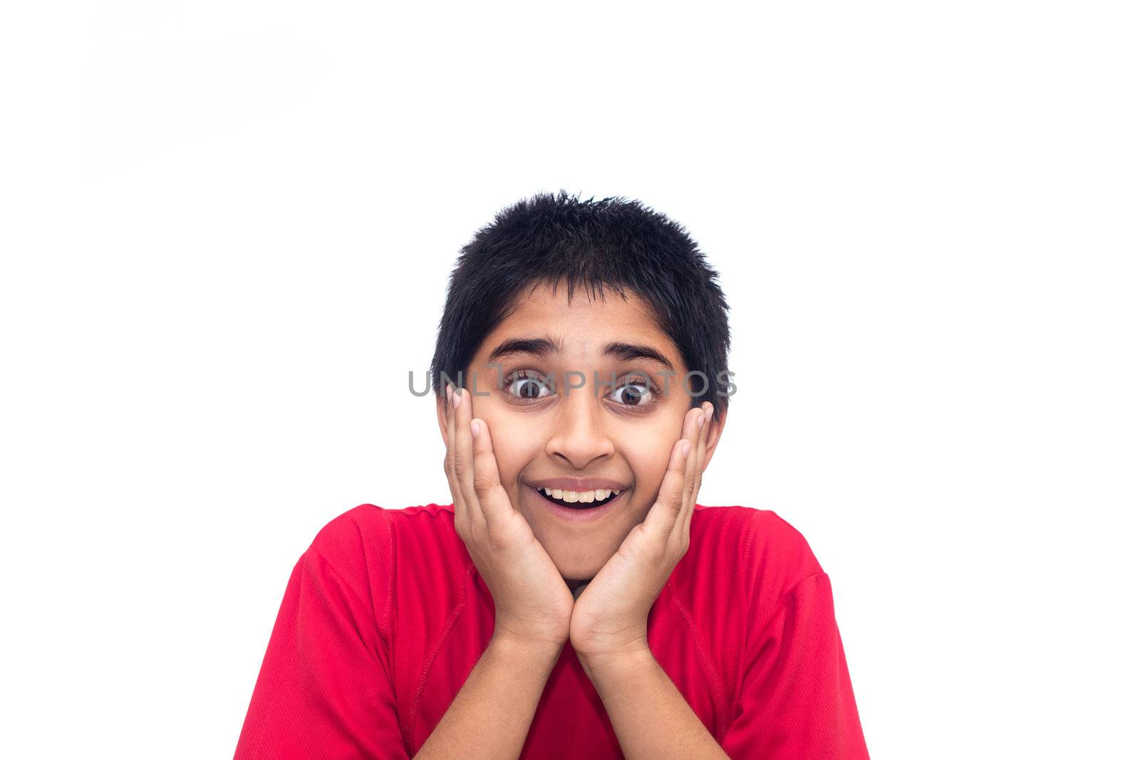
<path id="1" fill-rule="evenodd" d="M 454 505 L 361 504 L 301 555 L 235 758 L 412 758 L 495 630 Z M 649 645 L 730 758 L 866 758 L 831 585 L 774 512 L 698 504 Z M 621 758 L 567 642 L 521 758 Z"/>

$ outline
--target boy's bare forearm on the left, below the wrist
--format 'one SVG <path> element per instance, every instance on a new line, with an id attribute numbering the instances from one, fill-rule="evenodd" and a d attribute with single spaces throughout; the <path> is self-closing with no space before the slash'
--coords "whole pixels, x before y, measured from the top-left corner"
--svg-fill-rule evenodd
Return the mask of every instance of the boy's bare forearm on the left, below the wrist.
<path id="1" fill-rule="evenodd" d="M 518 758 L 560 653 L 492 637 L 415 760 Z"/>

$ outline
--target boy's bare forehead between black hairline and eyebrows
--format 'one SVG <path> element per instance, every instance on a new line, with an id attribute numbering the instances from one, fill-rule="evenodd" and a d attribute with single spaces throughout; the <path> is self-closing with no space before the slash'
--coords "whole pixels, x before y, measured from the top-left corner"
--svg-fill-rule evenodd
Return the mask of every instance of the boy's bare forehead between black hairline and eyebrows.
<path id="1" fill-rule="evenodd" d="M 565 358 L 597 358 L 604 346 L 628 342 L 652 346 L 674 366 L 682 364 L 676 345 L 658 325 L 653 307 L 628 288 L 622 298 L 610 288 L 592 294 L 578 287 L 569 301 L 564 287 L 523 289 L 507 317 L 483 340 L 479 355 L 486 357 L 505 340 L 544 337 L 559 344 Z"/>

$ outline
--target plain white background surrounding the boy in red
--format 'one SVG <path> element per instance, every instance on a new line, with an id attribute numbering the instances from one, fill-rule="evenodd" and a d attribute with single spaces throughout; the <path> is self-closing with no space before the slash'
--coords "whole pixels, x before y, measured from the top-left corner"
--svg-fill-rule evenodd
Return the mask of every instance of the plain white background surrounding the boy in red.
<path id="1" fill-rule="evenodd" d="M 872 757 L 1135 757 L 1131 3 L 22 5 L 0 754 L 233 754 L 317 530 L 450 501 L 456 253 L 565 188 L 720 272 L 700 501 L 808 538 Z"/>

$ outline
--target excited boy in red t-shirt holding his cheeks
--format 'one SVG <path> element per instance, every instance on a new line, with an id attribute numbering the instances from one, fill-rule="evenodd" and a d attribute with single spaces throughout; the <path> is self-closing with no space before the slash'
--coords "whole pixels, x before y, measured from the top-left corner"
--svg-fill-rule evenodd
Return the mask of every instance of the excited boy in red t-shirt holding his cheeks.
<path id="1" fill-rule="evenodd" d="M 500 212 L 432 361 L 453 503 L 317 535 L 236 757 L 865 758 L 803 536 L 695 502 L 728 337 L 665 216 L 564 191 Z"/>

